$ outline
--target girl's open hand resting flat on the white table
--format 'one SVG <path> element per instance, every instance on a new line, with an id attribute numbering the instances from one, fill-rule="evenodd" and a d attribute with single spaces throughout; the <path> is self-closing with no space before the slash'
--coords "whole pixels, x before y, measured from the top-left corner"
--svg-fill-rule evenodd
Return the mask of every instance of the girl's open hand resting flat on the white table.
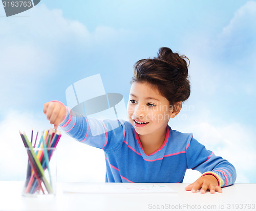
<path id="1" fill-rule="evenodd" d="M 216 191 L 222 193 L 221 187 L 218 186 L 218 180 L 212 175 L 199 177 L 194 183 L 185 187 L 186 191 L 192 191 L 193 193 L 196 193 L 199 189 L 201 189 L 201 194 L 205 194 L 207 189 L 210 190 L 211 194 L 214 194 Z"/>

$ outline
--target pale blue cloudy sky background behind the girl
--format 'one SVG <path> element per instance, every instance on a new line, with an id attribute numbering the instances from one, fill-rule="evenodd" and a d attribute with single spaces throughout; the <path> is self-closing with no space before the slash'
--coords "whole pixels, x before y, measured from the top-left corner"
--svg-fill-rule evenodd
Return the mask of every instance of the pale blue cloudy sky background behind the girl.
<path id="1" fill-rule="evenodd" d="M 11 17 L 0 5 L 0 180 L 23 174 L 13 168 L 23 150 L 16 131 L 50 127 L 45 102 L 66 103 L 68 86 L 100 74 L 105 91 L 121 93 L 127 103 L 133 64 L 167 46 L 190 59 L 191 82 L 190 98 L 169 125 L 193 132 L 228 159 L 238 182 L 256 182 L 253 26 L 256 2 L 243 0 L 41 0 Z M 102 152 L 81 145 L 63 135 L 59 179 L 104 181 Z M 10 147 L 15 150 L 9 153 Z M 95 153 L 100 158 L 84 161 Z M 78 168 L 81 163 L 86 170 Z M 72 173 L 63 173 L 67 168 Z M 184 181 L 196 177 L 189 171 Z"/>

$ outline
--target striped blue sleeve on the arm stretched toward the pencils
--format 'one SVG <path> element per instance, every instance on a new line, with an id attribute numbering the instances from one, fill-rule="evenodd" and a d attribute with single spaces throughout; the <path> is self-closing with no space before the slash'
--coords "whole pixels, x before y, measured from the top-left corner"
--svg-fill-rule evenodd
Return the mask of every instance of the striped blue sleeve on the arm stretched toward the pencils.
<path id="1" fill-rule="evenodd" d="M 112 150 L 122 142 L 125 126 L 121 120 L 97 120 L 66 108 L 59 126 L 78 142 L 103 150 Z"/>

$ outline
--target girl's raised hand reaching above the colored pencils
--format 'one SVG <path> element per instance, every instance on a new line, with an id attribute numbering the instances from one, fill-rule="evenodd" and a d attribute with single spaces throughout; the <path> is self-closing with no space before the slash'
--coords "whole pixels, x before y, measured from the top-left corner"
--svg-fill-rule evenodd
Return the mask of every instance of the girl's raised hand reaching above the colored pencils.
<path id="1" fill-rule="evenodd" d="M 53 101 L 45 103 L 43 111 L 46 114 L 47 120 L 50 121 L 50 124 L 54 125 L 54 129 L 57 129 L 59 124 L 65 119 L 67 113 L 64 104 Z"/>

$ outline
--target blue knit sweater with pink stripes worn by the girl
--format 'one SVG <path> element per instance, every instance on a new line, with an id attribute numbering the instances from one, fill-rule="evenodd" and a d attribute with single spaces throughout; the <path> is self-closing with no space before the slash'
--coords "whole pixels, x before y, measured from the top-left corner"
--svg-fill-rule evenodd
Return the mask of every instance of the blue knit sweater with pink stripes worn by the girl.
<path id="1" fill-rule="evenodd" d="M 192 133 L 169 126 L 163 145 L 150 155 L 127 121 L 97 120 L 67 109 L 60 127 L 78 142 L 104 150 L 106 182 L 179 183 L 186 169 L 214 175 L 221 187 L 236 180 L 236 170 L 227 160 L 205 149 Z"/>

